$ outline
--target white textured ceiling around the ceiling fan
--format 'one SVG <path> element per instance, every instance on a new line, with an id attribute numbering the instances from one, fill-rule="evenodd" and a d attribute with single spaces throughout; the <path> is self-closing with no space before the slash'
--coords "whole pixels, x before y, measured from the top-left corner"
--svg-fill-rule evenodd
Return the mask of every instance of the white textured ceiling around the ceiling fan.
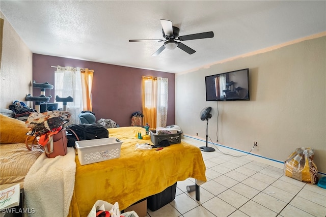
<path id="1" fill-rule="evenodd" d="M 178 73 L 326 31 L 325 1 L 0 1 L 33 53 Z M 214 32 L 152 54 L 160 19 L 180 36 Z"/>

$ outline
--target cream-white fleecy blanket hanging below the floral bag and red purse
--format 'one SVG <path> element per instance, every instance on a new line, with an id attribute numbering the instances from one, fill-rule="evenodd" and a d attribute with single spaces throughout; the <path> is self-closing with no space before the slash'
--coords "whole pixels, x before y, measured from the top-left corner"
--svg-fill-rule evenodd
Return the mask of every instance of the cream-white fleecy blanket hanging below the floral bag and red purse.
<path id="1" fill-rule="evenodd" d="M 29 216 L 64 216 L 75 184 L 75 150 L 67 148 L 65 156 L 47 158 L 43 152 L 24 179 L 26 208 Z"/>

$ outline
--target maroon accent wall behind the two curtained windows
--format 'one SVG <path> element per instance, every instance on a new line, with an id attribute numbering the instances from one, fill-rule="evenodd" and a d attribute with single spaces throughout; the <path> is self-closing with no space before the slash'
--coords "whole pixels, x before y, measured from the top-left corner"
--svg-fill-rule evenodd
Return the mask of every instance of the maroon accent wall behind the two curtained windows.
<path id="1" fill-rule="evenodd" d="M 131 114 L 142 111 L 142 76 L 169 79 L 167 125 L 174 124 L 174 74 L 153 70 L 137 69 L 110 64 L 95 63 L 78 59 L 33 54 L 33 80 L 37 83 L 49 82 L 55 85 L 56 68 L 51 66 L 70 66 L 94 70 L 92 101 L 96 119 L 110 118 L 120 127 L 130 126 Z M 55 100 L 55 90 L 51 91 Z M 40 89 L 33 88 L 33 95 L 39 96 Z M 46 90 L 49 95 L 49 90 Z M 69 107 L 69 103 L 67 105 Z"/>

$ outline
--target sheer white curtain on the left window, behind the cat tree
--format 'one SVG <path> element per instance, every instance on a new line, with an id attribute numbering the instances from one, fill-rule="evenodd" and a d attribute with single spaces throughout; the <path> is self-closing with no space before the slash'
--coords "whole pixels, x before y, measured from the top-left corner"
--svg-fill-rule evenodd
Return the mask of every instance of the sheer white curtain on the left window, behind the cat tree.
<path id="1" fill-rule="evenodd" d="M 83 111 L 83 91 L 80 68 L 58 66 L 55 72 L 55 96 L 61 98 L 70 96 L 73 98 L 73 102 L 67 102 L 67 111 L 71 113 L 68 124 L 79 124 L 78 115 Z M 59 108 L 63 108 L 63 104 L 60 105 L 59 103 Z"/>

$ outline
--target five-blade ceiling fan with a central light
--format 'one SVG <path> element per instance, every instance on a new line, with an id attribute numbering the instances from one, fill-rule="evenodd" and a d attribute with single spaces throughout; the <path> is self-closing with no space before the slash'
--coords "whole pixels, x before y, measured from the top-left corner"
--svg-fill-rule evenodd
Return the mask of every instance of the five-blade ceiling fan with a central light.
<path id="1" fill-rule="evenodd" d="M 176 47 L 180 48 L 181 50 L 187 52 L 188 54 L 193 54 L 196 50 L 186 46 L 185 44 L 178 41 L 187 41 L 187 40 L 194 40 L 194 39 L 207 39 L 213 38 L 213 32 L 206 32 L 206 33 L 197 33 L 191 34 L 186 36 L 179 36 L 180 29 L 178 27 L 172 26 L 172 21 L 170 20 L 160 20 L 162 25 L 162 34 L 165 40 L 162 39 L 136 39 L 136 40 L 129 40 L 129 42 L 142 42 L 142 41 L 157 41 L 157 42 L 164 42 L 164 44 L 153 53 L 152 56 L 157 56 L 162 52 L 165 48 L 173 50 Z"/>

